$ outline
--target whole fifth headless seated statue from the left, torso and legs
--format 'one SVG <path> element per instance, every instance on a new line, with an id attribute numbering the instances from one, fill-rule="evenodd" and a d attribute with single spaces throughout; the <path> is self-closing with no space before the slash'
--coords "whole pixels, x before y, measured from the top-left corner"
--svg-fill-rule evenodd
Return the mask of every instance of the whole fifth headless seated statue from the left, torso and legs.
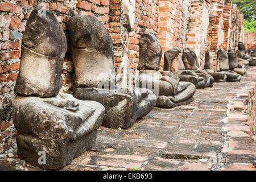
<path id="1" fill-rule="evenodd" d="M 190 48 L 183 50 L 182 61 L 185 70 L 179 71 L 181 81 L 189 81 L 196 85 L 196 88 L 212 87 L 214 78 L 204 70 L 199 69 L 199 61 L 196 53 Z"/>

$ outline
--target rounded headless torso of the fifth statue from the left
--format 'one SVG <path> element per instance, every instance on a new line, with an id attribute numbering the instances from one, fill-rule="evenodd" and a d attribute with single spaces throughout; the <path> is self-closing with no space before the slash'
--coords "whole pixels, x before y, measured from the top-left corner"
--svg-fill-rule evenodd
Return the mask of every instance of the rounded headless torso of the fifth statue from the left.
<path id="1" fill-rule="evenodd" d="M 185 48 L 183 50 L 182 61 L 184 63 L 185 69 L 188 70 L 196 70 L 200 66 L 196 53 L 190 48 Z"/>

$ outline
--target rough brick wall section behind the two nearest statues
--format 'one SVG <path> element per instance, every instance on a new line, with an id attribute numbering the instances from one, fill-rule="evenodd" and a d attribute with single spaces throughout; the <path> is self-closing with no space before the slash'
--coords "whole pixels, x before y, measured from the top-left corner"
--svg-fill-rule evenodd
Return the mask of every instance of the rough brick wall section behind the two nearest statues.
<path id="1" fill-rule="evenodd" d="M 64 92 L 70 93 L 73 89 L 71 47 L 67 34 L 69 17 L 74 14 L 93 15 L 105 23 L 106 28 L 109 28 L 108 0 L 72 0 L 72 5 L 67 2 L 64 0 L 51 1 L 51 3 L 36 0 L 0 2 L 0 154 L 15 147 L 16 130 L 11 119 L 11 107 L 19 70 L 21 35 L 31 11 L 38 6 L 52 11 L 66 32 L 68 49 L 63 67 L 64 86 L 62 90 Z"/>

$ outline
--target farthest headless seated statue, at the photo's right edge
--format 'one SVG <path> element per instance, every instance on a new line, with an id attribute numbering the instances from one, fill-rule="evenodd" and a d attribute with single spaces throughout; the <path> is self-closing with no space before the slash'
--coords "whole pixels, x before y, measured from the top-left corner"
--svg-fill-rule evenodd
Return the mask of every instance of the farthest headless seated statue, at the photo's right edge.
<path id="1" fill-rule="evenodd" d="M 241 63 L 245 64 L 245 66 L 247 66 L 246 61 L 248 61 L 248 66 L 256 65 L 256 58 L 248 54 L 246 46 L 243 44 L 243 42 L 238 42 L 237 55 L 240 57 Z"/>

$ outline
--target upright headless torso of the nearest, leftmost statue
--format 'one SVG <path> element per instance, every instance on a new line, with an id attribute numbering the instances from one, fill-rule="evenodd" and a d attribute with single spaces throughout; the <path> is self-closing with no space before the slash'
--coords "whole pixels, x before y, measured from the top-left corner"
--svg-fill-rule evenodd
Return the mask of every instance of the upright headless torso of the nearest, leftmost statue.
<path id="1" fill-rule="evenodd" d="M 15 93 L 23 96 L 56 96 L 63 84 L 61 68 L 67 40 L 55 16 L 34 10 L 22 36 L 22 55 Z"/>

